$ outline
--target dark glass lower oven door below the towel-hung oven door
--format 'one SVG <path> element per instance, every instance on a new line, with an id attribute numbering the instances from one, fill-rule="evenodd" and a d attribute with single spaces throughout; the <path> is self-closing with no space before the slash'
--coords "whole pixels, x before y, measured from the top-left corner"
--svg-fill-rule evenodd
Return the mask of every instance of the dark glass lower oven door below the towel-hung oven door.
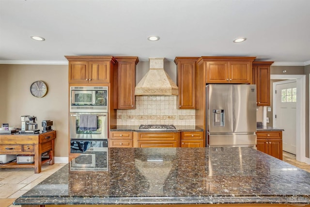
<path id="1" fill-rule="evenodd" d="M 108 147 L 108 140 L 71 140 L 70 153 L 82 153 L 91 147 Z"/>

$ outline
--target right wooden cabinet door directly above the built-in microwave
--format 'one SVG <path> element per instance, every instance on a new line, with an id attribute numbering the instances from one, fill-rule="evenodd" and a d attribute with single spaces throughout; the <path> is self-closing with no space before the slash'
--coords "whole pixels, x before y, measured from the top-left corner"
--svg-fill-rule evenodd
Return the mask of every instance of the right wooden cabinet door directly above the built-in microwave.
<path id="1" fill-rule="evenodd" d="M 109 83 L 110 82 L 110 64 L 106 62 L 89 63 L 89 82 L 90 83 Z"/>

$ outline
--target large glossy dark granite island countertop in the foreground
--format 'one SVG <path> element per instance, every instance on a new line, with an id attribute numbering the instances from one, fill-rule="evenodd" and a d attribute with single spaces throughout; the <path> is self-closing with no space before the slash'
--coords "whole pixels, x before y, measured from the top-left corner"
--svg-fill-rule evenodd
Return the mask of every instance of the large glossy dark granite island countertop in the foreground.
<path id="1" fill-rule="evenodd" d="M 68 163 L 14 205 L 310 204 L 310 173 L 253 148 L 106 149 L 106 171 Z"/>

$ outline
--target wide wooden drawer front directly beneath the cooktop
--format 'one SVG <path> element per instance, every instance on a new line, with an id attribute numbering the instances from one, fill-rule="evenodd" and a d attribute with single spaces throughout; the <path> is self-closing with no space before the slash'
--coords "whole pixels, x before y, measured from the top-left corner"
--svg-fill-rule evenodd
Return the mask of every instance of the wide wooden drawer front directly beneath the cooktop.
<path id="1" fill-rule="evenodd" d="M 138 132 L 137 147 L 180 147 L 179 132 Z"/>

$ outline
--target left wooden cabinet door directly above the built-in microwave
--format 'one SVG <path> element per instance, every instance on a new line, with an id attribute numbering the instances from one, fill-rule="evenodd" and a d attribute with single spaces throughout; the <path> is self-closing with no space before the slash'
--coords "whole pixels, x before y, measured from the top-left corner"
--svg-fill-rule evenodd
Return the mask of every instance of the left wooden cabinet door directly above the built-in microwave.
<path id="1" fill-rule="evenodd" d="M 88 83 L 88 62 L 69 62 L 69 83 Z"/>

